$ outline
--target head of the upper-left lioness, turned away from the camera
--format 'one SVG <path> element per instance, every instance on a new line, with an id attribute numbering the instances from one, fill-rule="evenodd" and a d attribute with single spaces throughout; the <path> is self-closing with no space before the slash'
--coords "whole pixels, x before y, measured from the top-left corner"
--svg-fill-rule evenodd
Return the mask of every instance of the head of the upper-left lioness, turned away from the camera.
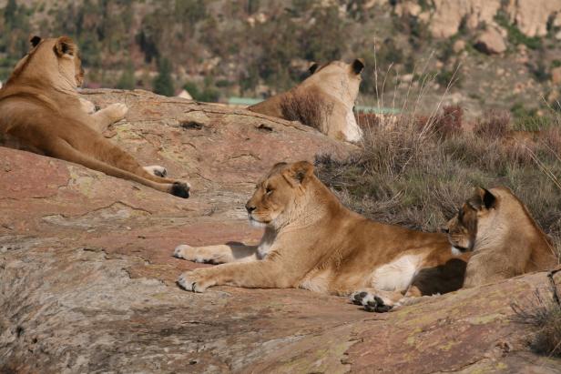
<path id="1" fill-rule="evenodd" d="M 48 80 L 54 86 L 67 88 L 82 86 L 82 60 L 77 45 L 70 37 L 42 39 L 33 36 L 29 42 L 29 52 L 17 63 L 8 83 L 21 77 L 27 80 Z"/>

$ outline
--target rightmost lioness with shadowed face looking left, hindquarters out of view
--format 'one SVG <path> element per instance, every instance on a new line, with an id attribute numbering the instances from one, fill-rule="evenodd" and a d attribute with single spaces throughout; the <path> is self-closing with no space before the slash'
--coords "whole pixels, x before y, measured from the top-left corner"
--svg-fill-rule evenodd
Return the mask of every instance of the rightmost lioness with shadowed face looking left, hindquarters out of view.
<path id="1" fill-rule="evenodd" d="M 507 187 L 475 188 L 474 196 L 448 222 L 448 238 L 456 250 L 474 253 L 464 288 L 557 264 L 551 241 Z"/>

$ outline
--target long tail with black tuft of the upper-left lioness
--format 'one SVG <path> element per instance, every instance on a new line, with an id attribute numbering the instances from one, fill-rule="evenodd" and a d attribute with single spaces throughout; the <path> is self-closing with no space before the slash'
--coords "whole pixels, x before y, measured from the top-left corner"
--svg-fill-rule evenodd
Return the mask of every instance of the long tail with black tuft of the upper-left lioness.
<path id="1" fill-rule="evenodd" d="M 57 138 L 56 141 L 51 144 L 54 147 L 47 147 L 51 149 L 46 149 L 52 156 L 60 158 L 69 162 L 75 162 L 76 164 L 89 167 L 93 170 L 101 171 L 111 177 L 119 177 L 122 179 L 128 179 L 138 182 L 144 186 L 152 187 L 158 191 L 168 192 L 172 195 L 179 197 L 189 197 L 189 187 L 187 185 L 181 186 L 174 183 L 157 183 L 144 177 L 140 177 L 134 173 L 127 170 L 120 169 L 118 167 L 113 167 L 103 161 L 97 160 L 94 157 L 89 157 L 80 153 L 76 148 L 70 146 L 65 140 Z"/>

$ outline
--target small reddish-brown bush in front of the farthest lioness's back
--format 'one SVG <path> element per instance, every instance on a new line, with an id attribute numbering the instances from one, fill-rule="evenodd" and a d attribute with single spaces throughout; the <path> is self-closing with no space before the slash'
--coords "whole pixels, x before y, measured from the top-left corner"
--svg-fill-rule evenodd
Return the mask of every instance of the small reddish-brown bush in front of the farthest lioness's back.
<path id="1" fill-rule="evenodd" d="M 282 116 L 289 121 L 300 121 L 301 124 L 319 129 L 325 133 L 327 118 L 331 116 L 333 106 L 317 96 L 288 95 L 280 103 Z"/>

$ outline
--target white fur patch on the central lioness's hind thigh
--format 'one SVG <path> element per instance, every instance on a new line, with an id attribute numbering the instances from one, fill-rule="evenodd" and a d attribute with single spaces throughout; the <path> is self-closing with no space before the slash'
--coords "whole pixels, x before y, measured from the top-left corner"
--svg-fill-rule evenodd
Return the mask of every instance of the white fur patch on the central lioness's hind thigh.
<path id="1" fill-rule="evenodd" d="M 382 291 L 407 289 L 417 274 L 422 259 L 420 255 L 405 255 L 375 268 L 372 272 L 372 288 Z"/>

